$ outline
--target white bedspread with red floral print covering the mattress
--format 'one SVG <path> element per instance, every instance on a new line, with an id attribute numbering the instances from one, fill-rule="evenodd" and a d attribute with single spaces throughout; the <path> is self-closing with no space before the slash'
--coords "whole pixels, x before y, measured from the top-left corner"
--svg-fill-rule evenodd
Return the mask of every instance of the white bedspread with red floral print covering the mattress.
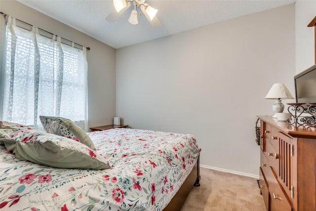
<path id="1" fill-rule="evenodd" d="M 192 135 L 129 128 L 88 134 L 111 169 L 41 166 L 0 146 L 0 209 L 161 211 L 199 154 Z"/>

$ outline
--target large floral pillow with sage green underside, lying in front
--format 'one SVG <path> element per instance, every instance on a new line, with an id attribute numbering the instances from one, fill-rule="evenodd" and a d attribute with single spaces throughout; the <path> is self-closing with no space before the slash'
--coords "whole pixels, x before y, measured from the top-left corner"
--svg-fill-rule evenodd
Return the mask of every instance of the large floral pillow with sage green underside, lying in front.
<path id="1" fill-rule="evenodd" d="M 15 156 L 44 166 L 66 169 L 109 169 L 94 150 L 70 138 L 37 129 L 3 129 L 5 138 L 16 142 Z"/>

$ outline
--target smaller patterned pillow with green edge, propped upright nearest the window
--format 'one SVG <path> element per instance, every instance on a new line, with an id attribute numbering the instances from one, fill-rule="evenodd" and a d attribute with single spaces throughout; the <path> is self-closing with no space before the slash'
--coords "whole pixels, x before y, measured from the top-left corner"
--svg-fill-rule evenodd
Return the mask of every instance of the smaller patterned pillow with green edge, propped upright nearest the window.
<path id="1" fill-rule="evenodd" d="M 76 141 L 80 141 L 93 150 L 96 149 L 87 133 L 69 119 L 62 117 L 40 116 L 40 122 L 48 133 L 71 138 Z"/>

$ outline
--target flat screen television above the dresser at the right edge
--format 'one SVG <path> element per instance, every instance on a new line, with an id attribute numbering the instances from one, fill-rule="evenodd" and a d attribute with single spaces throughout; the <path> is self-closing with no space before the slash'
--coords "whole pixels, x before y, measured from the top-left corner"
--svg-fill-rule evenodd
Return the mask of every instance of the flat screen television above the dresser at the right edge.
<path id="1" fill-rule="evenodd" d="M 294 76 L 294 83 L 296 103 L 316 103 L 316 65 Z"/>

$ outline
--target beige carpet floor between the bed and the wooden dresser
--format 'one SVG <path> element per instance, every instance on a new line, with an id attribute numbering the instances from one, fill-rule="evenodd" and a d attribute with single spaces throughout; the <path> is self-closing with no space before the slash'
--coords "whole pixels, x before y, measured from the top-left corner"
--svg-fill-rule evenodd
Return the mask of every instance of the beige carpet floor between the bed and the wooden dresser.
<path id="1" fill-rule="evenodd" d="M 266 211 L 257 179 L 206 168 L 200 174 L 181 211 Z"/>

